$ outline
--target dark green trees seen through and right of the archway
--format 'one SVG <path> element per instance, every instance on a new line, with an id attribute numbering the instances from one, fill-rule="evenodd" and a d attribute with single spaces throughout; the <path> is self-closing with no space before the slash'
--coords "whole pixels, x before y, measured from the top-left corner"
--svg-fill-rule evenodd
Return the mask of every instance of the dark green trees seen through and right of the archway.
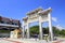
<path id="1" fill-rule="evenodd" d="M 52 27 L 52 30 L 53 30 L 54 35 L 65 35 L 65 30 L 64 29 L 60 30 L 56 27 Z M 47 28 L 43 27 L 42 32 L 44 34 L 49 34 L 49 27 L 47 27 Z M 39 34 L 39 26 L 30 27 L 30 34 Z"/>

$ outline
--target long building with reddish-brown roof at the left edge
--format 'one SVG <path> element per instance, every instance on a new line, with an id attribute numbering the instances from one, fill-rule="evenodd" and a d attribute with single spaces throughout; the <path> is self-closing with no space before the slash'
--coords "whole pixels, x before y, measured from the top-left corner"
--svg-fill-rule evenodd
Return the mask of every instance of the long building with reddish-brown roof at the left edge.
<path id="1" fill-rule="evenodd" d="M 20 20 L 0 16 L 0 37 L 10 37 L 10 31 L 13 31 L 20 28 L 21 28 Z"/>

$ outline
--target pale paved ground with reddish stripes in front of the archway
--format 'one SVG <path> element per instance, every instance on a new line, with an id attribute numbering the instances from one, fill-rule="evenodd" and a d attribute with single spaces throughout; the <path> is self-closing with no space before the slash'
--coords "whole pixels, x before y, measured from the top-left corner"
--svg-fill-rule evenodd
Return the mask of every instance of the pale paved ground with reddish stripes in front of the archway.
<path id="1" fill-rule="evenodd" d="M 52 43 L 44 40 L 34 40 L 34 39 L 0 39 L 0 43 Z M 58 39 L 54 43 L 65 43 L 65 39 Z"/>

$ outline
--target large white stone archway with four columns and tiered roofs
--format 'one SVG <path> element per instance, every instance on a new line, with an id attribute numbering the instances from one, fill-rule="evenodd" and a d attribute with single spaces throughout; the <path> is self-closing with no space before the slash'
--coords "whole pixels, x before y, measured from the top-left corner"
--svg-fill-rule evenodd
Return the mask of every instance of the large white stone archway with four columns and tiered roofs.
<path id="1" fill-rule="evenodd" d="M 42 23 L 47 22 L 49 23 L 49 35 L 50 39 L 53 40 L 53 31 L 52 31 L 52 22 L 51 22 L 51 11 L 52 9 L 49 8 L 47 10 L 42 10 L 42 8 L 36 9 L 31 12 L 27 13 L 27 17 L 24 17 L 23 20 L 23 38 L 24 38 L 24 29 L 25 26 L 27 27 L 27 38 L 30 38 L 29 34 L 29 24 L 34 23 L 34 22 L 39 22 L 39 34 L 40 34 L 40 39 L 42 40 L 43 38 L 43 33 L 42 33 Z"/>

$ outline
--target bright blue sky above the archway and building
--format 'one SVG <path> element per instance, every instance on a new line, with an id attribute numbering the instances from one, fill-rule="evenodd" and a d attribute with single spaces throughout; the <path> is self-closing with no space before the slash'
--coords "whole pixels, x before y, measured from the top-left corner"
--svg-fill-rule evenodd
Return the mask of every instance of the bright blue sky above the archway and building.
<path id="1" fill-rule="evenodd" d="M 53 26 L 65 28 L 65 0 L 0 0 L 0 16 L 20 19 L 39 6 L 52 8 Z"/>

